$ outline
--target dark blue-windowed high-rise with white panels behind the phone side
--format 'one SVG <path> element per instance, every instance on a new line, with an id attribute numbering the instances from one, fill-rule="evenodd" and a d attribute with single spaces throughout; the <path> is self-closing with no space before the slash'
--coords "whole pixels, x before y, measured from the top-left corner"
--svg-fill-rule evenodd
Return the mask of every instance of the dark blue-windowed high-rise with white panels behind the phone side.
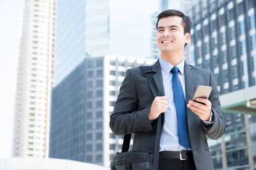
<path id="1" fill-rule="evenodd" d="M 191 61 L 212 71 L 220 94 L 256 85 L 255 12 L 255 0 L 202 0 L 189 11 Z M 256 167 L 256 117 L 242 113 L 223 113 L 224 137 L 209 139 L 215 170 Z"/>

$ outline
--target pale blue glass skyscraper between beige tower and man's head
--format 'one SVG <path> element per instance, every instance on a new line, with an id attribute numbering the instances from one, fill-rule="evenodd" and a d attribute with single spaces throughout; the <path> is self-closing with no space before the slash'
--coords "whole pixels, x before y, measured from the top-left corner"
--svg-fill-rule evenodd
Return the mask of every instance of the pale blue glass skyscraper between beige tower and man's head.
<path id="1" fill-rule="evenodd" d="M 85 57 L 150 57 L 156 0 L 58 0 L 56 85 Z"/>

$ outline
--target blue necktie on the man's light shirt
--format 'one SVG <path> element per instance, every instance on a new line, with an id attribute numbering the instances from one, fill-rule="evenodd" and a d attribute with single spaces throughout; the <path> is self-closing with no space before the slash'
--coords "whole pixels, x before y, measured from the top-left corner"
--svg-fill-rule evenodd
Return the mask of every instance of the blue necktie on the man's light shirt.
<path id="1" fill-rule="evenodd" d="M 182 85 L 178 77 L 179 68 L 173 67 L 171 72 L 173 74 L 172 86 L 177 110 L 179 143 L 181 146 L 188 149 L 190 147 L 190 140 L 186 119 L 186 102 L 183 94 Z"/>

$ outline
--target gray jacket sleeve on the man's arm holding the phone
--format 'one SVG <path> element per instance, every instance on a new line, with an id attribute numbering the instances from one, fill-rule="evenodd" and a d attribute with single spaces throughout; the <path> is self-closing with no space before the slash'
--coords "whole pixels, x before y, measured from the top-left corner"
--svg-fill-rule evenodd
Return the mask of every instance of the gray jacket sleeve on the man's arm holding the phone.
<path id="1" fill-rule="evenodd" d="M 209 136 L 209 138 L 217 140 L 224 135 L 225 123 L 224 123 L 224 117 L 221 113 L 221 103 L 218 95 L 218 88 L 212 72 L 210 72 L 209 86 L 212 87 L 212 92 L 209 96 L 209 101 L 212 103 L 212 113 L 214 114 L 214 123 L 211 127 L 208 127 L 208 128 L 204 127 L 204 125 L 202 126 L 207 136 Z"/>

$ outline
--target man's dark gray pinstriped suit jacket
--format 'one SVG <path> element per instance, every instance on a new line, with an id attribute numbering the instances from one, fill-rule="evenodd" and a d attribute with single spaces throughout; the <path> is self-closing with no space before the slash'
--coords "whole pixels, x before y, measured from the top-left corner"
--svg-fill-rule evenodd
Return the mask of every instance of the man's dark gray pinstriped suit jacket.
<path id="1" fill-rule="evenodd" d="M 161 96 L 165 95 L 163 77 L 159 60 L 151 66 L 153 78 Z M 221 113 L 221 104 L 218 89 L 210 71 L 188 65 L 185 62 L 186 103 L 192 99 L 198 85 L 211 86 L 209 100 L 215 122 L 212 127 L 203 126 L 199 116 L 186 108 L 189 139 L 197 170 L 214 170 L 211 153 L 206 135 L 211 139 L 219 139 L 225 131 L 224 119 Z M 131 68 L 126 71 L 125 79 L 120 88 L 113 114 L 110 117 L 110 127 L 114 134 L 123 135 L 134 133 L 133 148 L 145 148 L 154 153 L 156 126 L 148 120 L 148 112 L 154 101 L 154 95 L 148 85 L 146 77 L 140 68 Z M 162 118 L 164 113 L 161 114 Z M 162 122 L 164 120 L 162 119 Z M 163 124 L 161 131 L 163 130 Z"/>

